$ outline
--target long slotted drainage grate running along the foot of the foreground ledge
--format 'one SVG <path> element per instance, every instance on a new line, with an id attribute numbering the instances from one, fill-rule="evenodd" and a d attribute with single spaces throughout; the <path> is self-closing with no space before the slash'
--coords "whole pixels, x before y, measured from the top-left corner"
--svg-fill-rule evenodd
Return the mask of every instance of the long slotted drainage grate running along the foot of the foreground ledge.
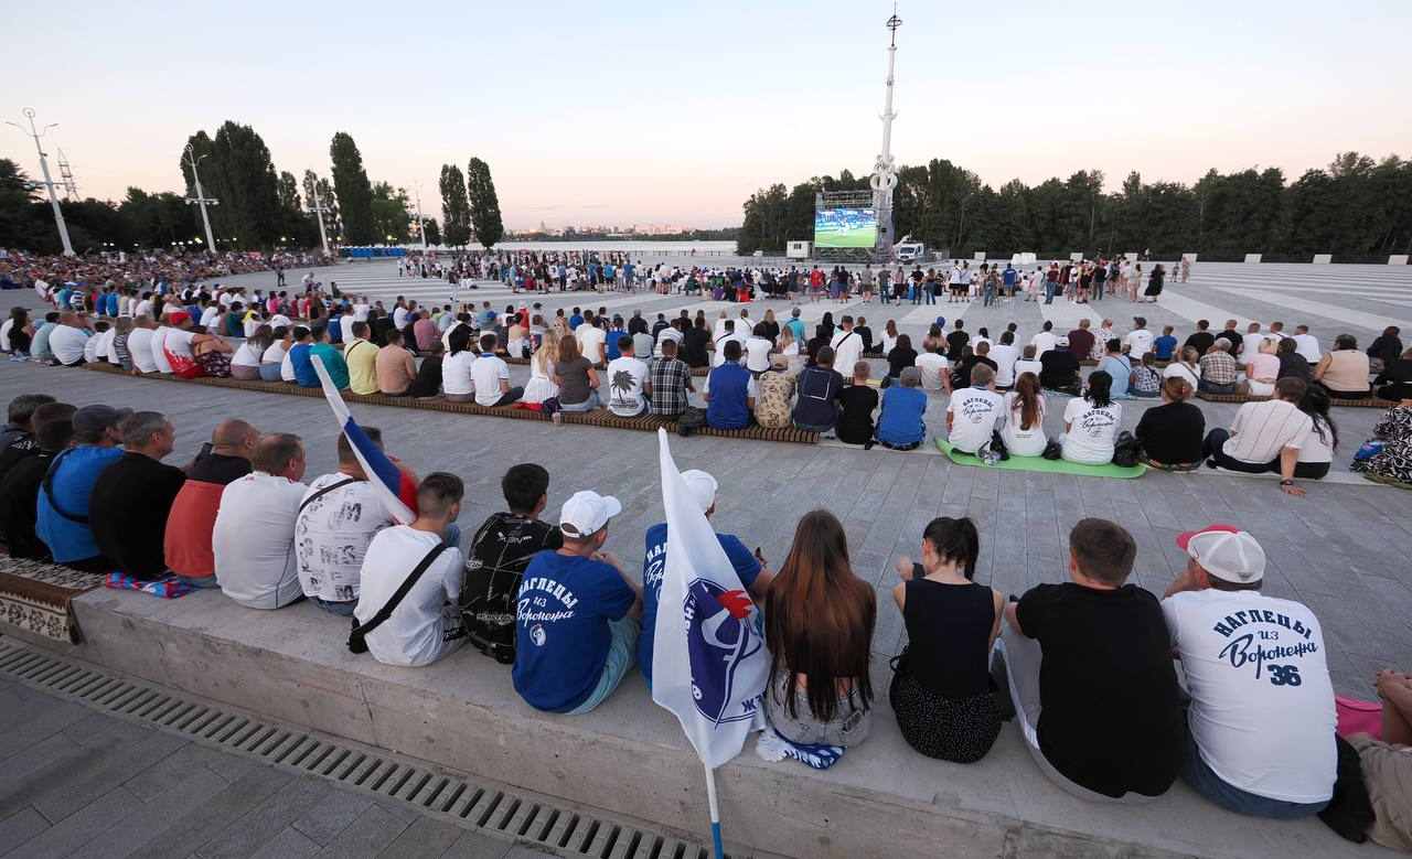
<path id="1" fill-rule="evenodd" d="M 42 650 L 0 640 L 0 671 L 127 719 L 174 731 L 205 745 L 313 774 L 397 800 L 457 825 L 531 843 L 561 856 L 593 859 L 709 859 L 698 842 L 551 805 L 544 797 L 477 784 L 405 759 L 363 752 L 297 728 L 263 722 L 219 705 L 112 677 Z M 727 859 L 731 859 L 727 855 Z M 744 859 L 736 856 L 734 859 Z"/>

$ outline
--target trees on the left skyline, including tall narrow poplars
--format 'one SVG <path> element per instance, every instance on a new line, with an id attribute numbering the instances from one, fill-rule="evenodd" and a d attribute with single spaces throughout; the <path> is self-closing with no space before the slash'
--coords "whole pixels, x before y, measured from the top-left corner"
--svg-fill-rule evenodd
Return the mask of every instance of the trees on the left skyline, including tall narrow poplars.
<path id="1" fill-rule="evenodd" d="M 346 131 L 336 133 L 329 142 L 328 176 L 312 169 L 295 176 L 275 169 L 270 148 L 253 127 L 227 120 L 215 134 L 199 130 L 186 140 L 178 157 L 185 193 L 128 188 L 119 202 L 92 197 L 61 200 L 73 248 L 89 252 L 205 247 L 201 214 L 196 206 L 186 202 L 196 196 L 193 162 L 202 193 L 219 202 L 208 207 L 217 250 L 318 247 L 315 202 L 323 209 L 330 244 L 421 240 L 407 189 L 370 181 L 363 155 Z M 460 171 L 455 172 L 459 178 Z M 496 244 L 504 236 L 504 226 L 490 166 L 472 158 L 469 173 L 460 183 L 463 212 L 456 210 L 455 230 L 449 223 L 450 209 L 443 213 L 448 221 L 445 234 L 436 219 L 424 217 L 428 244 L 446 241 L 460 247 L 472 237 L 487 247 Z M 446 192 L 443 169 L 443 205 Z M 0 159 L 0 247 L 59 251 L 54 214 L 42 185 L 32 182 L 18 164 L 8 159 Z"/>

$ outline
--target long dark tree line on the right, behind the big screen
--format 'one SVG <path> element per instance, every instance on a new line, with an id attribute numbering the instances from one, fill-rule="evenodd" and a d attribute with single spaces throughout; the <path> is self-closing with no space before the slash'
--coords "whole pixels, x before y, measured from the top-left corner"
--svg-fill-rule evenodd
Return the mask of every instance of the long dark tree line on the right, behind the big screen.
<path id="1" fill-rule="evenodd" d="M 1326 168 L 1286 183 L 1279 168 L 1210 171 L 1195 185 L 1144 182 L 1128 173 L 1106 193 L 1101 171 L 1079 171 L 1028 186 L 998 189 L 946 159 L 904 166 L 892 195 L 895 238 L 911 236 L 953 255 L 987 251 L 1041 257 L 1151 251 L 1199 252 L 1207 260 L 1308 261 L 1313 254 L 1372 260 L 1412 252 L 1412 161 L 1374 161 L 1340 152 Z M 792 189 L 762 188 L 746 200 L 741 254 L 784 251 L 813 238 L 815 195 L 866 190 L 867 176 L 843 171 Z"/>

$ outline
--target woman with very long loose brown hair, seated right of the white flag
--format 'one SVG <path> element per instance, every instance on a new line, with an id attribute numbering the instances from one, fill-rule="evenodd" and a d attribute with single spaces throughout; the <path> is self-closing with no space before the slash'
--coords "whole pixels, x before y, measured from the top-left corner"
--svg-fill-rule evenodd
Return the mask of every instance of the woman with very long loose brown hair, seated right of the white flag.
<path id="1" fill-rule="evenodd" d="M 877 598 L 853 574 L 843 525 L 829 511 L 805 513 L 765 597 L 765 714 L 781 736 L 830 746 L 867 739 L 875 621 Z"/>

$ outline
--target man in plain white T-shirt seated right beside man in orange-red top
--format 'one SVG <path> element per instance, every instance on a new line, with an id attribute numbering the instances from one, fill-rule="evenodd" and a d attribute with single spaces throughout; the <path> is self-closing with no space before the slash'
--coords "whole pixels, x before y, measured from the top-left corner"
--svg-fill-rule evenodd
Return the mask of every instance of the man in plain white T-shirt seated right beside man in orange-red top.
<path id="1" fill-rule="evenodd" d="M 299 436 L 265 436 L 250 457 L 253 473 L 220 494 L 210 547 L 220 590 L 246 608 L 282 608 L 304 598 L 294 546 L 308 489 Z"/>

